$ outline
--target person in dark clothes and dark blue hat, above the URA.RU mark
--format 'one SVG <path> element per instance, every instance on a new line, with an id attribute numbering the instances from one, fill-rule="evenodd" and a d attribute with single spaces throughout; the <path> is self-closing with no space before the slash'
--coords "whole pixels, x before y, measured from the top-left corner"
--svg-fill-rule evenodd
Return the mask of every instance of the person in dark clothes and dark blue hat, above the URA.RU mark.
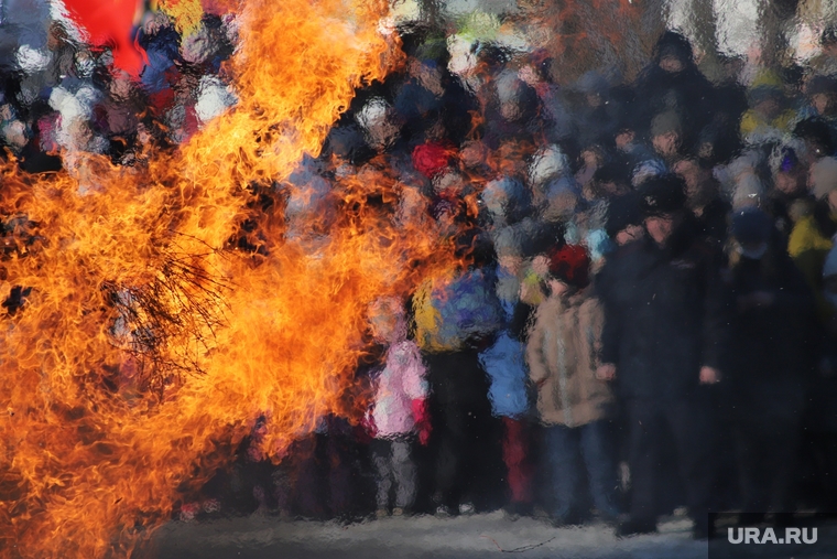
<path id="1" fill-rule="evenodd" d="M 814 299 L 769 215 L 756 207 L 737 211 L 732 239 L 728 388 L 743 509 L 791 510 L 791 474 L 813 369 Z"/>

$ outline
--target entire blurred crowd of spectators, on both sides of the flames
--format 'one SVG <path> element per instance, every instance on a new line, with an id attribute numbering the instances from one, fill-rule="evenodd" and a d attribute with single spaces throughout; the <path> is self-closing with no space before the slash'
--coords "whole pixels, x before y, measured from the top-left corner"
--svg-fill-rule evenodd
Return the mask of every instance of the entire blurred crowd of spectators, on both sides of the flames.
<path id="1" fill-rule="evenodd" d="M 235 104 L 235 21 L 199 35 L 148 17 L 137 83 L 54 26 L 47 60 L 3 82 L 7 154 L 81 172 L 74 153 L 176 149 Z M 323 418 L 279 464 L 251 451 L 257 424 L 181 515 L 502 507 L 628 536 L 685 506 L 703 538 L 708 510 L 833 508 L 837 28 L 804 66 L 721 56 L 716 80 L 668 31 L 632 82 L 569 84 L 544 52 L 476 43 L 453 65 L 435 30 L 402 35 L 403 68 L 275 189 L 316 250 L 333 184 L 385 169 L 393 227 L 423 221 L 455 258 L 370 305 L 362 418 Z"/>

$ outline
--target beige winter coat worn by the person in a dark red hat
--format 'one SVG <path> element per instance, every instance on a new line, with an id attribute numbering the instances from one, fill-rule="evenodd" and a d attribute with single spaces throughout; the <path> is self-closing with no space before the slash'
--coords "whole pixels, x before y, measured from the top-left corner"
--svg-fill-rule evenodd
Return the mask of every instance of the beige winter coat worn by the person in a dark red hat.
<path id="1" fill-rule="evenodd" d="M 577 427 L 608 415 L 610 387 L 596 378 L 601 323 L 601 307 L 589 289 L 552 297 L 537 308 L 526 362 L 530 378 L 540 385 L 543 423 Z"/>

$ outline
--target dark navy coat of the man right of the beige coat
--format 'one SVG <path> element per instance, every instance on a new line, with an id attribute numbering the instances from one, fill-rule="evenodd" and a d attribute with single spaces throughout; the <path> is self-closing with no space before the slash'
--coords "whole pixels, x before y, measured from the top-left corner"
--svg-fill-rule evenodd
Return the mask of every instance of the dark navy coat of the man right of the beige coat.
<path id="1" fill-rule="evenodd" d="M 719 260 L 688 223 L 664 248 L 644 237 L 608 256 L 597 280 L 601 359 L 616 365 L 622 397 L 688 398 L 702 366 L 721 368 L 729 297 Z"/>

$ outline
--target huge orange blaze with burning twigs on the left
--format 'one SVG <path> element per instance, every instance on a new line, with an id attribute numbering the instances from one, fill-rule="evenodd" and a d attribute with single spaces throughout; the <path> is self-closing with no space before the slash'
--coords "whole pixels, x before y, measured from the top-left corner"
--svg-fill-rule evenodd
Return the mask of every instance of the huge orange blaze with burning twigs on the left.
<path id="1" fill-rule="evenodd" d="M 400 195 L 374 169 L 337 186 L 316 245 L 285 235 L 272 184 L 401 62 L 387 9 L 248 0 L 239 103 L 176 153 L 2 170 L 0 212 L 25 218 L 9 222 L 0 295 L 31 292 L 0 334 L 0 556 L 127 556 L 257 418 L 278 458 L 356 406 L 365 310 L 416 284 L 438 241 L 365 203 Z"/>

